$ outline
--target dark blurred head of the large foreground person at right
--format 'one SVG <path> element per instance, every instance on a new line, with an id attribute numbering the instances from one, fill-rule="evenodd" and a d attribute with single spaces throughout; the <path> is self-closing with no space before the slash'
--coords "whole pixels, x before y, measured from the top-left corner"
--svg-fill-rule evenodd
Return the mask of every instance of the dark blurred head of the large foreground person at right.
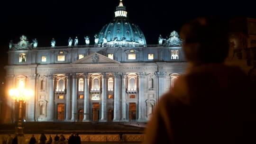
<path id="1" fill-rule="evenodd" d="M 180 31 L 183 51 L 193 65 L 222 63 L 229 52 L 228 23 L 221 18 L 196 18 Z"/>

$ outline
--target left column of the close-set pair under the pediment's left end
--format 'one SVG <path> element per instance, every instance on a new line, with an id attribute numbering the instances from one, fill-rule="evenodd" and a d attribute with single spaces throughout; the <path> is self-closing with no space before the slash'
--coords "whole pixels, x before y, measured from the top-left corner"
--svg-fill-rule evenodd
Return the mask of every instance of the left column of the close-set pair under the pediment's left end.
<path id="1" fill-rule="evenodd" d="M 70 120 L 71 116 L 71 75 L 66 75 L 66 121 Z"/>

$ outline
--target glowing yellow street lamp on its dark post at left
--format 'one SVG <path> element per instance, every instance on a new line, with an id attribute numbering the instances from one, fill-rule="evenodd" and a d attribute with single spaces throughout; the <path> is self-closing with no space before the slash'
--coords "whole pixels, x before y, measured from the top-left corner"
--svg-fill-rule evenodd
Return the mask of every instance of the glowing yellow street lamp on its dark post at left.
<path id="1" fill-rule="evenodd" d="M 18 111 L 18 125 L 16 126 L 16 134 L 23 136 L 23 126 L 22 126 L 22 103 L 25 103 L 31 96 L 34 95 L 33 90 L 26 89 L 24 81 L 19 81 L 18 88 L 10 89 L 9 95 L 11 99 L 17 100 L 19 103 Z"/>

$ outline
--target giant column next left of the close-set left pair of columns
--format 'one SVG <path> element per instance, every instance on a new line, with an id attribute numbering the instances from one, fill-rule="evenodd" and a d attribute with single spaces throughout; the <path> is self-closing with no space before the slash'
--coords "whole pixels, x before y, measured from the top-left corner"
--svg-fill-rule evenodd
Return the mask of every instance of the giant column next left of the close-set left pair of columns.
<path id="1" fill-rule="evenodd" d="M 47 108 L 47 121 L 54 120 L 54 75 L 48 75 L 49 82 L 49 107 Z"/>

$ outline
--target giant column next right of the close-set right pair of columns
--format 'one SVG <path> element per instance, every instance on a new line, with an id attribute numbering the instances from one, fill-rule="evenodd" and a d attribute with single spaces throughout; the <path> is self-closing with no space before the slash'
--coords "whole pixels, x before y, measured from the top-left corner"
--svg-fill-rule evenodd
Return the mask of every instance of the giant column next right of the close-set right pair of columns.
<path id="1" fill-rule="evenodd" d="M 139 72 L 139 88 L 138 88 L 138 121 L 146 120 L 146 102 L 145 102 L 145 91 L 146 91 L 146 73 Z"/>

